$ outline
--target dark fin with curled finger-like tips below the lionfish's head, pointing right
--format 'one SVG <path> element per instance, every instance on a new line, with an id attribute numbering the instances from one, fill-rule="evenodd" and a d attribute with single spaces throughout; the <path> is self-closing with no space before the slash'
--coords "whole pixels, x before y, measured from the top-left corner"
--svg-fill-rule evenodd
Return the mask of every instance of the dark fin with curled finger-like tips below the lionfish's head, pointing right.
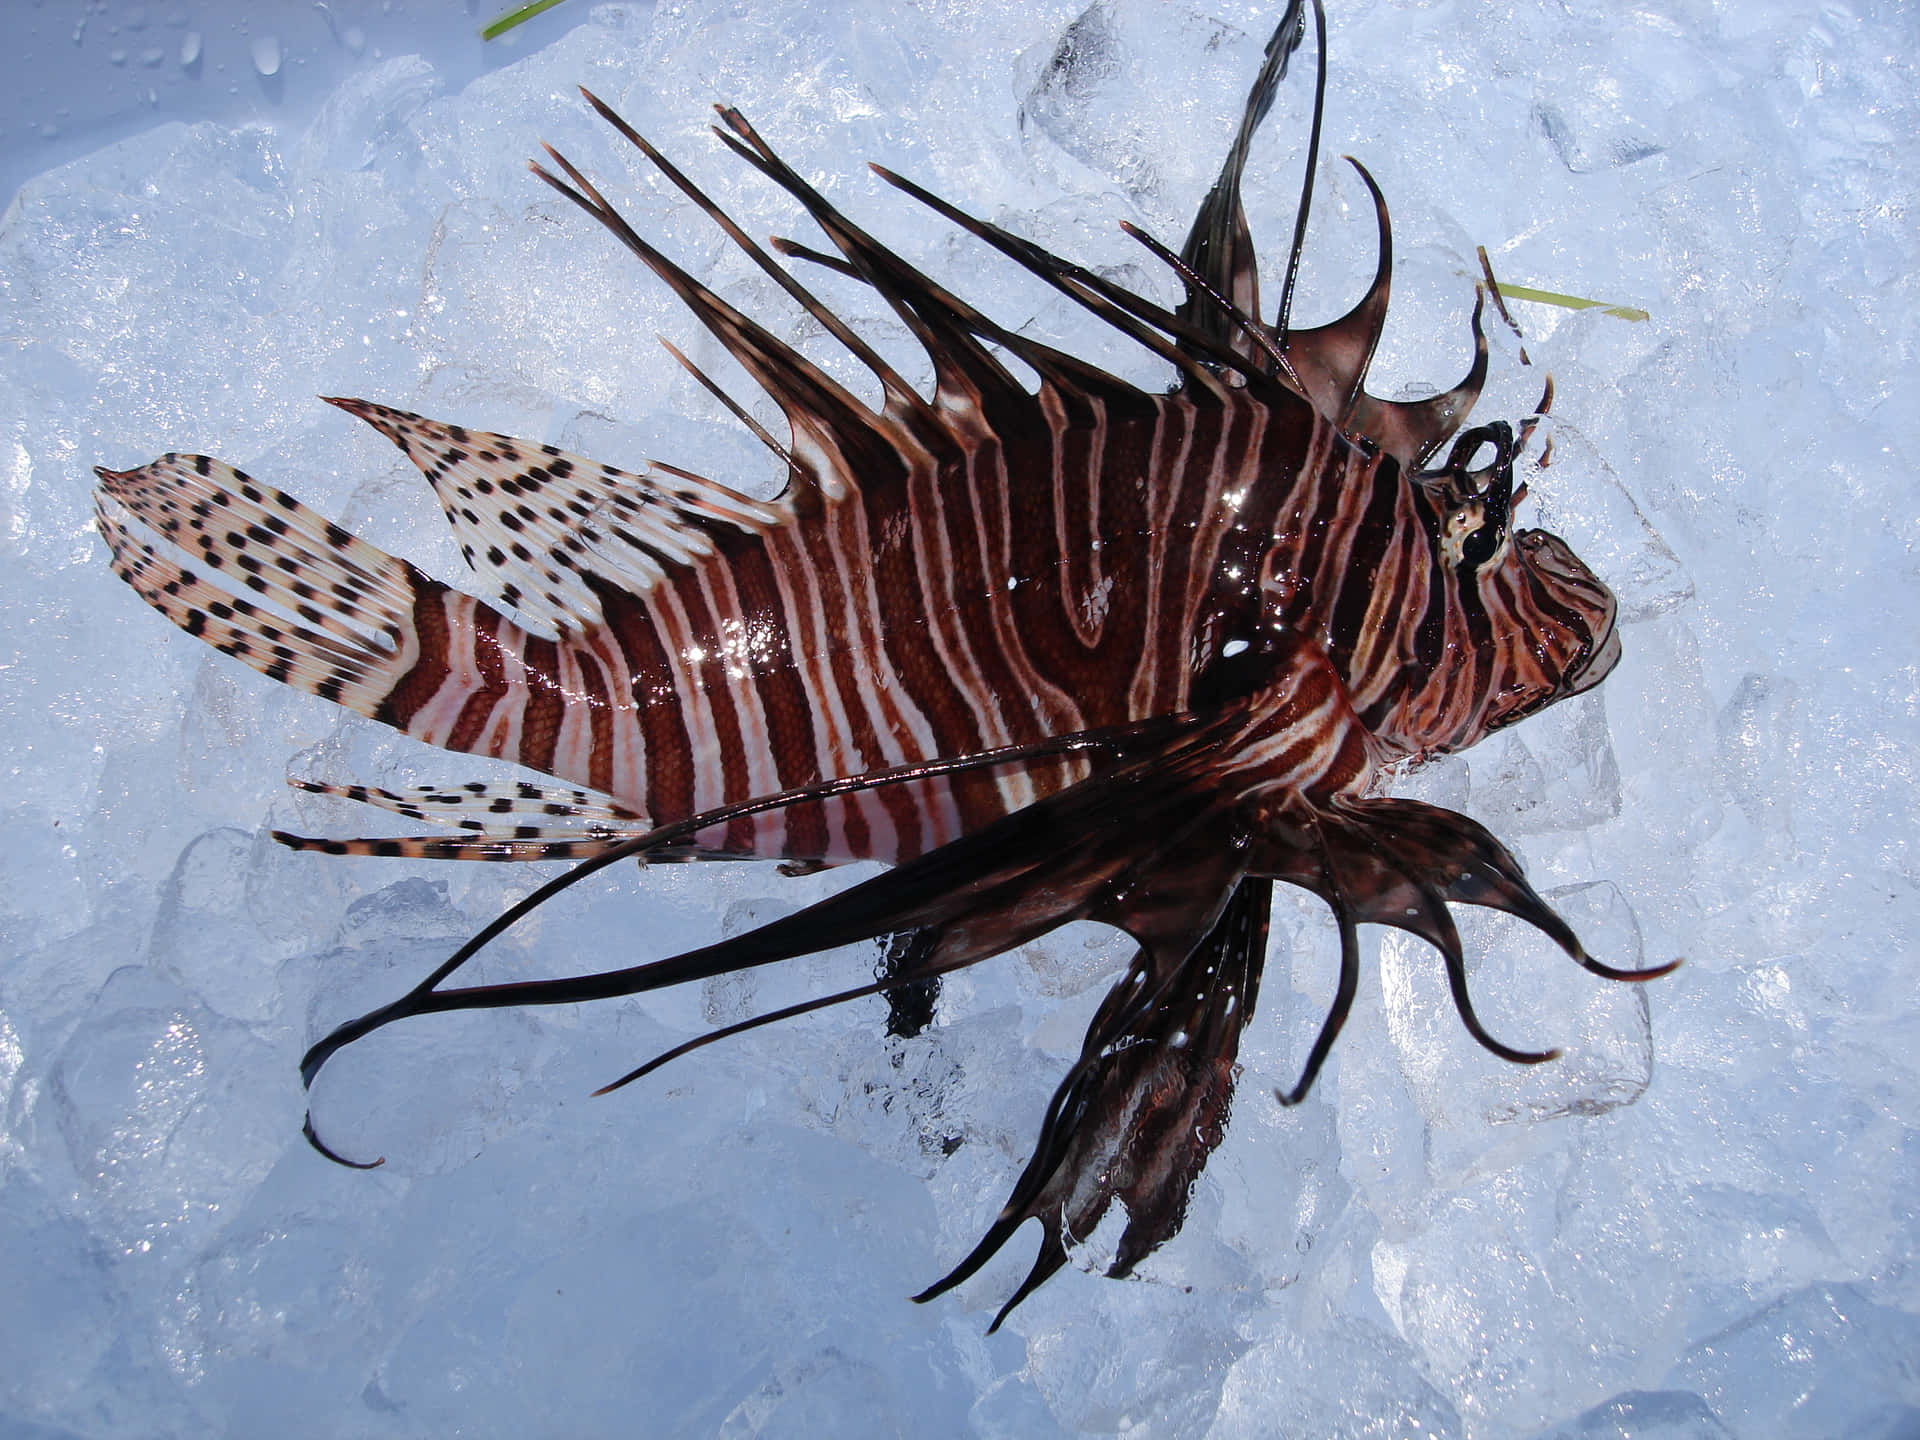
<path id="1" fill-rule="evenodd" d="M 1279 1092 L 1298 1104 L 1313 1089 L 1359 985 L 1356 925 L 1392 925 L 1440 950 L 1448 987 L 1467 1033 L 1515 1064 L 1553 1060 L 1559 1050 L 1519 1050 L 1480 1023 L 1467 991 L 1467 958 L 1448 904 L 1480 904 L 1524 920 L 1586 970 L 1619 981 L 1670 973 L 1680 962 L 1619 970 L 1586 952 L 1567 922 L 1540 899 L 1519 862 L 1478 822 L 1423 801 L 1340 799 L 1325 808 L 1283 810 L 1256 847 L 1252 874 L 1284 879 L 1319 895 L 1340 931 L 1340 983 L 1300 1081 Z"/>

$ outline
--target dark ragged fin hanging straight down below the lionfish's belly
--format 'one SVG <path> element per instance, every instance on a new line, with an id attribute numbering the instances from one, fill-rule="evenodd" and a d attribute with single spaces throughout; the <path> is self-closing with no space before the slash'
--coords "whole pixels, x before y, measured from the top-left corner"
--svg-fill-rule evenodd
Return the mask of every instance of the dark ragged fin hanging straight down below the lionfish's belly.
<path id="1" fill-rule="evenodd" d="M 1068 1261 L 1116 1200 L 1127 1223 L 1106 1273 L 1125 1279 L 1187 1219 L 1187 1202 L 1227 1131 L 1240 1031 L 1254 1016 L 1273 883 L 1242 879 L 1177 964 L 1142 948 L 1087 1031 L 1079 1064 L 1046 1108 L 1033 1160 L 979 1244 L 914 1296 L 970 1279 L 1029 1219 L 1044 1231 L 1027 1279 L 989 1334 Z"/>

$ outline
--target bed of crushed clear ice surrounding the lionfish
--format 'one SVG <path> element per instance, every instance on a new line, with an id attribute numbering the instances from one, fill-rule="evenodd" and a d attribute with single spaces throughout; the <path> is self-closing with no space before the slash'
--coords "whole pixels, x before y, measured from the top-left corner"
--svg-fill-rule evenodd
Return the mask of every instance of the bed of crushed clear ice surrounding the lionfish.
<path id="1" fill-rule="evenodd" d="M 522 157 L 553 140 L 695 273 L 831 351 L 576 83 L 751 230 L 812 238 L 705 134 L 710 100 L 739 104 L 962 294 L 1152 378 L 858 161 L 1171 296 L 1116 221 L 1181 238 L 1271 25 L 1240 0 L 1117 4 L 1048 84 L 1071 0 L 576 4 L 576 29 L 459 94 L 424 61 L 369 60 L 311 129 L 163 125 L 29 182 L 0 223 L 0 1430 L 1920 1430 L 1920 27 L 1891 2 L 1332 15 L 1327 150 L 1373 167 L 1402 259 L 1382 388 L 1463 367 L 1475 244 L 1505 278 L 1653 315 L 1517 305 L 1561 384 L 1534 522 L 1620 591 L 1624 664 L 1405 785 L 1486 820 L 1597 952 L 1686 956 L 1617 987 L 1471 924 L 1490 1025 L 1567 1060 L 1480 1054 L 1438 960 L 1375 933 L 1325 1079 L 1283 1112 L 1271 1091 L 1332 979 L 1321 918 L 1283 904 L 1185 1233 L 1140 1283 L 1064 1273 L 993 1338 L 1031 1236 L 958 1298 L 904 1296 L 1025 1160 L 1123 954 L 1100 931 L 948 983 L 924 1039 L 889 1043 L 866 1002 L 609 1100 L 588 1092 L 697 1027 L 851 983 L 870 954 L 403 1025 L 317 1094 L 324 1131 L 388 1165 L 307 1150 L 305 1044 L 534 876 L 271 845 L 273 824 L 369 820 L 296 803 L 288 772 L 482 766 L 165 626 L 108 574 L 88 468 L 221 455 L 449 578 L 419 476 L 313 396 L 768 484 L 653 336 L 714 346 Z M 1288 84 L 1250 173 L 1269 276 L 1304 96 Z M 1371 265 L 1356 184 L 1323 175 L 1302 321 Z M 870 296 L 820 288 L 906 349 Z M 1484 413 L 1515 417 L 1538 369 L 1496 344 Z M 626 870 L 482 973 L 630 964 L 828 883 Z"/>

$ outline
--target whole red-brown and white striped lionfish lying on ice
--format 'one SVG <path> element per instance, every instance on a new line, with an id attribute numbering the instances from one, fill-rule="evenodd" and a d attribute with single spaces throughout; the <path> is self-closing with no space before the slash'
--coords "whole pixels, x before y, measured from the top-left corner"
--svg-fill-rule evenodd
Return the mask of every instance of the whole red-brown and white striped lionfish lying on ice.
<path id="1" fill-rule="evenodd" d="M 879 382 L 881 403 L 862 403 L 641 238 L 551 146 L 559 175 L 532 165 L 645 261 L 785 413 L 781 444 L 674 351 L 785 465 L 776 499 L 666 463 L 632 474 L 332 399 L 426 474 L 490 603 L 205 455 L 98 470 L 115 572 L 186 634 L 428 745 L 563 781 L 405 793 L 292 781 L 459 829 L 275 833 L 294 849 L 582 860 L 401 998 L 315 1044 L 301 1066 L 309 1087 L 336 1050 L 407 1016 L 636 995 L 860 941 L 885 947 L 872 983 L 712 1031 L 607 1089 L 722 1035 L 856 996 L 889 996 L 889 1027 L 912 1033 L 941 975 L 1073 920 L 1114 925 L 1139 952 L 1094 1014 L 1033 1158 L 973 1252 L 916 1296 L 960 1284 L 1039 1219 L 1039 1258 L 998 1327 L 1116 1202 L 1108 1275 L 1125 1277 L 1179 1231 L 1227 1123 L 1277 881 L 1317 895 L 1340 945 L 1331 1012 L 1279 1094 L 1286 1104 L 1306 1096 L 1348 1016 L 1361 924 L 1430 943 L 1473 1037 L 1526 1064 L 1555 1052 L 1511 1048 L 1480 1025 L 1450 904 L 1519 916 L 1607 979 L 1668 970 L 1592 958 L 1486 829 L 1379 793 L 1396 760 L 1463 749 L 1594 687 L 1620 647 L 1611 591 L 1559 538 L 1513 528 L 1524 495 L 1515 459 L 1551 382 L 1517 426 L 1461 430 L 1488 367 L 1480 303 L 1455 388 L 1419 401 L 1367 392 L 1392 236 L 1357 161 L 1379 223 L 1373 282 L 1332 324 L 1288 324 L 1327 83 L 1317 0 L 1315 21 L 1313 136 L 1273 323 L 1261 319 L 1240 179 L 1304 38 L 1300 0 L 1183 250 L 1135 230 L 1181 278 L 1177 309 L 876 167 L 1160 357 L 1175 372 L 1165 394 L 989 319 L 841 215 L 745 117 L 718 109 L 714 134 L 793 196 L 833 253 L 772 246 L 872 286 L 931 361 L 931 384 L 910 384 L 584 92 Z M 557 889 L 628 856 L 893 868 L 666 960 L 445 985 Z M 305 1129 L 340 1158 L 311 1114 Z"/>

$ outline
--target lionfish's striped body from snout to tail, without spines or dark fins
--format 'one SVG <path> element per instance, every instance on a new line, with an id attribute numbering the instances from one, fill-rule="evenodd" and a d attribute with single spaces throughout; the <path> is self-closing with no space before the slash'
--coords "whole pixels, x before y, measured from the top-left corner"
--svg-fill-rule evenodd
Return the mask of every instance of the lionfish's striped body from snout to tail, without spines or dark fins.
<path id="1" fill-rule="evenodd" d="M 553 634 L 541 634 L 376 557 L 390 647 L 317 653 L 300 670 L 278 666 L 271 643 L 240 659 L 428 745 L 599 791 L 655 826 L 833 776 L 1181 712 L 1235 641 L 1263 634 L 1325 653 L 1380 764 L 1471 745 L 1594 684 L 1617 655 L 1611 595 L 1559 541 L 1521 532 L 1498 566 L 1448 563 L 1430 486 L 1284 390 L 1192 399 L 1117 382 L 1104 396 L 1010 386 L 991 424 L 970 405 L 939 415 L 931 438 L 900 426 L 897 478 L 849 478 L 804 509 L 334 403 L 420 463 L 499 591 L 536 609 L 534 586 L 561 574 L 591 605 L 551 586 Z M 129 472 L 138 486 L 108 488 L 161 534 L 198 522 L 194 549 L 213 561 L 211 518 L 257 507 L 248 524 L 271 536 L 273 513 L 290 513 L 278 493 L 246 499 L 267 492 L 225 468 L 165 457 Z M 161 484 L 173 509 L 148 497 Z M 219 493 L 232 499 L 215 505 Z M 213 509 L 194 516 L 196 505 Z M 632 528 L 622 505 L 647 520 L 670 511 L 655 524 L 676 532 L 678 553 Z M 236 536 L 219 541 L 248 559 Z M 536 553 L 515 536 L 545 543 Z M 588 568 L 595 543 L 624 536 L 657 574 L 630 576 L 632 561 L 612 578 Z M 572 541 L 588 559 L 540 564 Z M 1567 591 L 1557 612 L 1555 584 Z M 228 618 L 211 589 L 200 597 L 194 607 L 177 589 L 171 612 L 188 628 Z M 1572 618 L 1555 626 L 1561 614 Z M 1075 770 L 1085 764 L 803 803 L 703 833 L 701 847 L 895 864 Z"/>

